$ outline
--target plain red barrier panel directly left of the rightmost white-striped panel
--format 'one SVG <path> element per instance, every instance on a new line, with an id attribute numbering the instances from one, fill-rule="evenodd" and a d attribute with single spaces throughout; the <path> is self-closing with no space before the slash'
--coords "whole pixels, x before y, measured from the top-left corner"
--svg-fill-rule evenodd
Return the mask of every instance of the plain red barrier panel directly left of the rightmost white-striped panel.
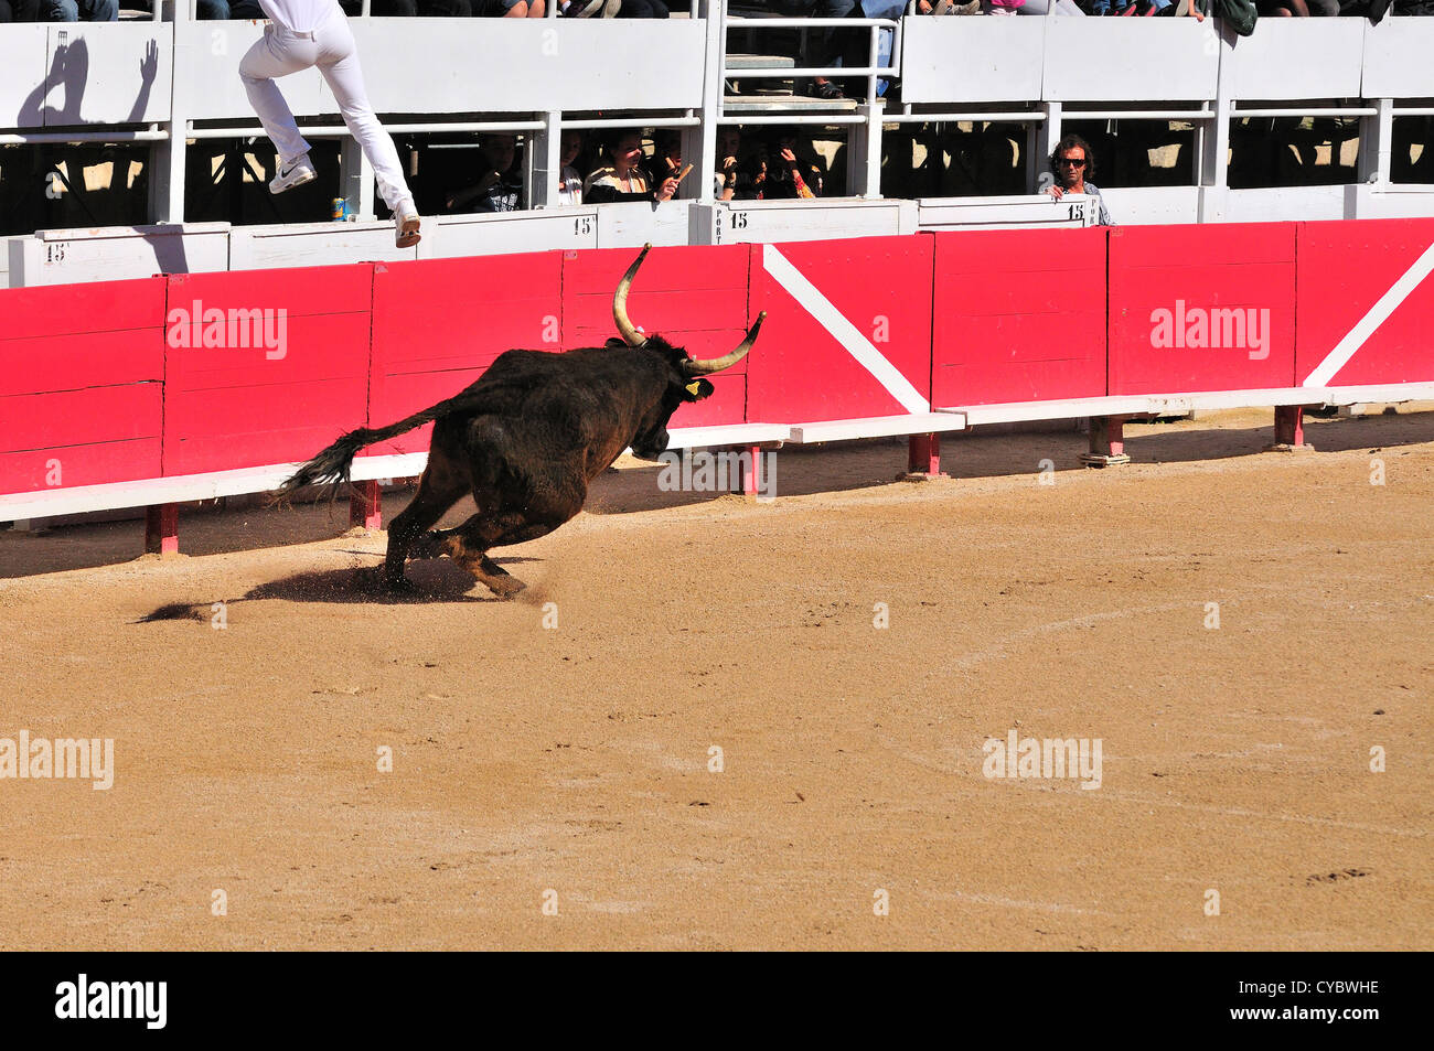
<path id="1" fill-rule="evenodd" d="M 1113 229 L 1107 393 L 1293 386 L 1295 228 Z"/>

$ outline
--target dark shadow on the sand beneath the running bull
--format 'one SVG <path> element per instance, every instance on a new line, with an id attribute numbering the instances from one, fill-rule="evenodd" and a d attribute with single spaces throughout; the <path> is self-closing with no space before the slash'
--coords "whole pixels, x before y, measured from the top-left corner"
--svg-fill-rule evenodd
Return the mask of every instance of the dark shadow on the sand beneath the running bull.
<path id="1" fill-rule="evenodd" d="M 373 558 L 371 552 L 350 552 Z M 542 562 L 541 558 L 508 556 L 495 558 L 499 565 L 515 565 L 521 562 Z M 235 602 L 254 602 L 262 599 L 280 599 L 284 602 L 324 602 L 324 604 L 384 604 L 384 605 L 426 605 L 435 602 L 505 602 L 490 594 L 482 584 L 463 572 L 457 565 L 446 558 L 423 559 L 409 562 L 407 578 L 413 584 L 413 591 L 393 594 L 383 586 L 380 579 L 380 565 L 347 566 L 344 569 L 313 569 L 301 574 L 270 581 L 250 588 L 239 598 L 227 599 L 227 605 Z M 519 592 L 512 601 L 522 602 L 528 591 Z M 533 594 L 533 599 L 538 594 Z M 162 607 L 145 614 L 135 624 L 152 624 L 155 621 L 208 621 L 212 615 L 212 602 L 166 602 Z"/>

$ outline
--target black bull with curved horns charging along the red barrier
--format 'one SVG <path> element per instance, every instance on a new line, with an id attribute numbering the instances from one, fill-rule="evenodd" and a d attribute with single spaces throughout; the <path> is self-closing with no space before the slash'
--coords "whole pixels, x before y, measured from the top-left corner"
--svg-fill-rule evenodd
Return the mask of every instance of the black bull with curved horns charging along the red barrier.
<path id="1" fill-rule="evenodd" d="M 661 336 L 642 336 L 628 320 L 627 294 L 648 248 L 612 295 L 622 340 L 565 354 L 503 351 L 455 397 L 387 427 L 348 432 L 294 472 L 280 492 L 347 480 L 360 449 L 432 422 L 419 492 L 389 528 L 383 582 L 406 591 L 410 556 L 449 555 L 493 594 L 518 594 L 523 584 L 488 558 L 489 548 L 536 539 L 571 519 L 582 509 L 588 483 L 628 446 L 637 456 L 657 459 L 667 449 L 667 423 L 677 407 L 711 394 L 713 384 L 701 377 L 740 361 L 761 328 L 764 311 L 734 351 L 708 361 L 690 358 Z M 430 532 L 467 493 L 478 513 L 455 529 Z"/>

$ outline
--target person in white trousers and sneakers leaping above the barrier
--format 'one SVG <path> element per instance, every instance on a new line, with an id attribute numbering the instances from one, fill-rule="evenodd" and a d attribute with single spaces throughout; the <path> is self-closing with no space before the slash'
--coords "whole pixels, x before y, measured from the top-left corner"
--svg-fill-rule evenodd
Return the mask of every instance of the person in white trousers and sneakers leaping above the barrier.
<path id="1" fill-rule="evenodd" d="M 413 194 L 403 178 L 399 151 L 369 105 L 358 52 L 338 0 L 260 0 L 260 6 L 271 24 L 239 62 L 239 79 L 278 151 L 278 173 L 270 181 L 270 192 L 282 194 L 317 178 L 308 143 L 274 79 L 318 66 L 344 123 L 373 165 L 379 195 L 393 211 L 394 242 L 399 248 L 416 245 L 422 232 Z"/>

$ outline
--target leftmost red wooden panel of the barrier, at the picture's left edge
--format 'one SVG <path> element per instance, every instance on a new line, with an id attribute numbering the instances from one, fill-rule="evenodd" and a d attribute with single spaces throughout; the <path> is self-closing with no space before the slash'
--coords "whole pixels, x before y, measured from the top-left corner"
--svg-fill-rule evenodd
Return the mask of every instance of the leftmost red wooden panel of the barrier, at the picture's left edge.
<path id="1" fill-rule="evenodd" d="M 0 492 L 158 477 L 165 280 L 0 295 Z"/>

